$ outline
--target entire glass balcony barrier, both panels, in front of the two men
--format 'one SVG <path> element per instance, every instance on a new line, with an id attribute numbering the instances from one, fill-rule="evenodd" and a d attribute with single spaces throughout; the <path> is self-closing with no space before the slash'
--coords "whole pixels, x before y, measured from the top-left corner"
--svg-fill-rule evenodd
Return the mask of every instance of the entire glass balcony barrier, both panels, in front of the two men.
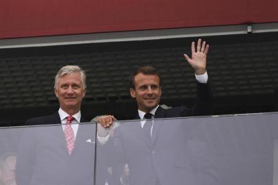
<path id="1" fill-rule="evenodd" d="M 277 113 L 151 122 L 150 140 L 141 121 L 118 121 L 104 142 L 83 123 L 71 155 L 61 125 L 1 128 L 0 183 L 278 184 Z"/>

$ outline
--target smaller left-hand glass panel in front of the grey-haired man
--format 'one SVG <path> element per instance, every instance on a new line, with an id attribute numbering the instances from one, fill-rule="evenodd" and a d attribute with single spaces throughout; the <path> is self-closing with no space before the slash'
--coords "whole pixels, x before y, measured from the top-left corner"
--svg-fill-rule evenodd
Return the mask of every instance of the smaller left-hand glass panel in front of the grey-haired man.
<path id="1" fill-rule="evenodd" d="M 94 184 L 95 124 L 79 125 L 71 154 L 61 124 L 0 132 L 0 184 Z"/>

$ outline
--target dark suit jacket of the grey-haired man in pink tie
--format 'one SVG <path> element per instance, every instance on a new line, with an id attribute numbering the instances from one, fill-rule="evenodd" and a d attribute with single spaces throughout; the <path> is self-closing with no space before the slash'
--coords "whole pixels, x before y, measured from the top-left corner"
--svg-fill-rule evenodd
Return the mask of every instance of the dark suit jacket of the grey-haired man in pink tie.
<path id="1" fill-rule="evenodd" d="M 81 122 L 87 122 L 81 117 Z M 68 154 L 58 112 L 27 121 L 18 146 L 16 184 L 62 185 L 94 183 L 95 125 L 80 124 L 75 147 Z M 90 142 L 91 141 L 91 142 Z"/>

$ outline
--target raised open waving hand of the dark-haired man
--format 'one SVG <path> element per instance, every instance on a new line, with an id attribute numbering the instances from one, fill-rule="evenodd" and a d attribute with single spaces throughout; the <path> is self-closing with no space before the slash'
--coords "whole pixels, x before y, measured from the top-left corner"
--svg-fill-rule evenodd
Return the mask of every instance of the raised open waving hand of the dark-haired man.
<path id="1" fill-rule="evenodd" d="M 203 75 L 206 71 L 208 49 L 209 45 L 206 45 L 205 41 L 202 43 L 201 38 L 199 38 L 197 42 L 197 49 L 195 48 L 195 42 L 192 42 L 191 44 L 191 58 L 184 54 L 184 57 L 190 66 L 192 66 L 196 75 Z"/>

